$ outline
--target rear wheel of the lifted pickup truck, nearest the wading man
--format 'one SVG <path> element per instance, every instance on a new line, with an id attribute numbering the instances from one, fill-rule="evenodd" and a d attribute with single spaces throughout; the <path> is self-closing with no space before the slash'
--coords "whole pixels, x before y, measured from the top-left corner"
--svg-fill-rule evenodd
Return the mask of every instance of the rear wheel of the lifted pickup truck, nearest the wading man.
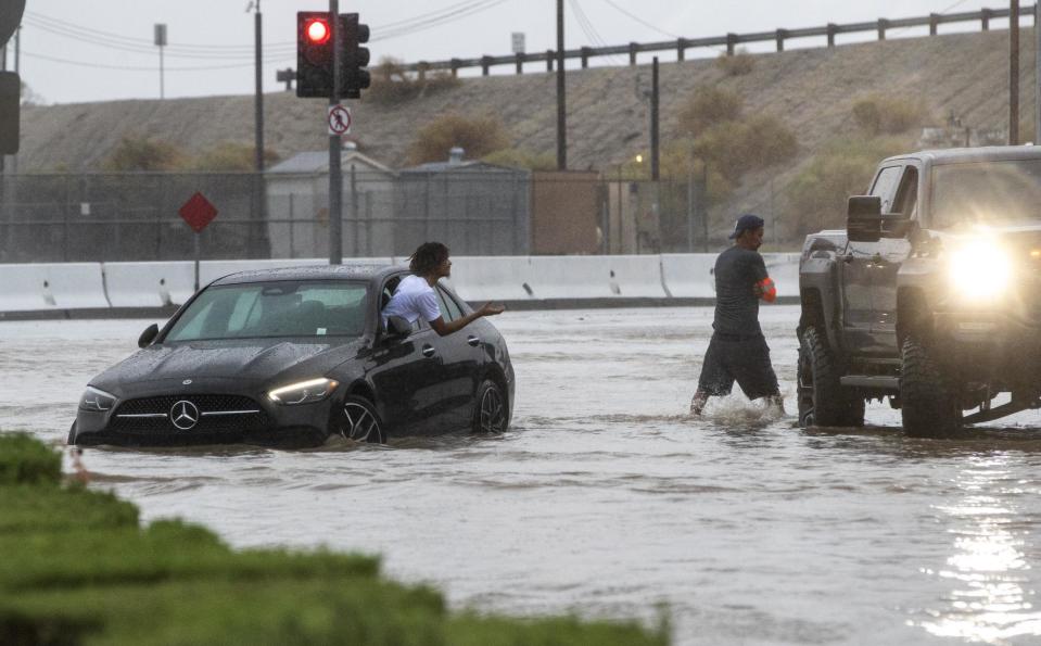
<path id="1" fill-rule="evenodd" d="M 864 400 L 839 383 L 839 371 L 816 328 L 799 345 L 799 426 L 862 427 Z"/>

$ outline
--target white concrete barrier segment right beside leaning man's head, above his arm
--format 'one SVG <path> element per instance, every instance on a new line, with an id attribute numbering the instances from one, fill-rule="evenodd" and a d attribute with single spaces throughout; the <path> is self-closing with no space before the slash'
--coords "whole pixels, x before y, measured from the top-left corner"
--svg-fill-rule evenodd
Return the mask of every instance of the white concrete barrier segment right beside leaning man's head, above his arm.
<path id="1" fill-rule="evenodd" d="M 465 301 L 526 301 L 533 297 L 528 256 L 452 258 L 450 284 Z"/>

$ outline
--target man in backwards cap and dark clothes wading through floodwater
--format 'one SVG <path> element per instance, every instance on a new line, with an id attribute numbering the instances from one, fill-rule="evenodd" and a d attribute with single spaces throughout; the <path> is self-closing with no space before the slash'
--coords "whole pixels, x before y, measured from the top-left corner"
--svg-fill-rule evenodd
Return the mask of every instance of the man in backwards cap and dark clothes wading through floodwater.
<path id="1" fill-rule="evenodd" d="M 731 394 L 735 380 L 749 400 L 766 397 L 771 410 L 784 414 L 770 347 L 759 327 L 759 300 L 773 303 L 777 299 L 777 288 L 757 251 L 763 243 L 763 218 L 742 215 L 731 240 L 734 246 L 715 261 L 714 331 L 704 353 L 698 391 L 690 401 L 690 414 L 701 415 L 710 396 Z"/>

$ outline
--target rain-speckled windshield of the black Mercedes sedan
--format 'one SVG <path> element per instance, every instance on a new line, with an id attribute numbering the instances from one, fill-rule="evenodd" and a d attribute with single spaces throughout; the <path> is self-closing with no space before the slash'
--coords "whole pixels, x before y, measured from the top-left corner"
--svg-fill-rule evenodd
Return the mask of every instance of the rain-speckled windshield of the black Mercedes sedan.
<path id="1" fill-rule="evenodd" d="M 207 288 L 165 341 L 266 337 L 359 337 L 366 286 L 279 280 Z"/>

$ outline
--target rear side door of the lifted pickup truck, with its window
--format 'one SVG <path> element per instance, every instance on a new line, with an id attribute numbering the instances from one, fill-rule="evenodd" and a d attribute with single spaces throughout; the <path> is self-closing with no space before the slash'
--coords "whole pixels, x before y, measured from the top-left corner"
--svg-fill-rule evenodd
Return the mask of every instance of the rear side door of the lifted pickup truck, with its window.
<path id="1" fill-rule="evenodd" d="M 892 204 L 901 170 L 899 164 L 879 168 L 872 182 L 868 194 L 881 198 L 883 213 Z M 847 242 L 841 255 L 842 333 L 846 346 L 853 349 L 856 354 L 873 354 L 876 350 L 872 338 L 872 271 L 879 254 L 879 244 Z"/>

